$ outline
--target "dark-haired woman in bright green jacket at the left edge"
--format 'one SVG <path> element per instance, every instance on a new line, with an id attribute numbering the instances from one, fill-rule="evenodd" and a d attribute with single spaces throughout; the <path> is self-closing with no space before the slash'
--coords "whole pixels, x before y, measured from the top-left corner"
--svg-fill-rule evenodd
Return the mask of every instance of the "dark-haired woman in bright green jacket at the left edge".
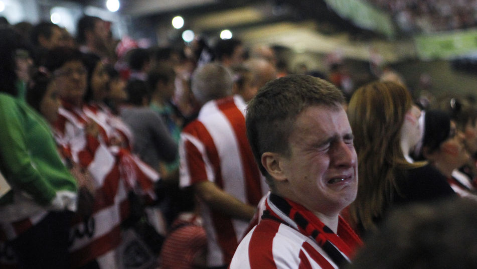
<path id="1" fill-rule="evenodd" d="M 0 197 L 0 230 L 21 268 L 69 268 L 76 181 L 58 155 L 47 121 L 16 97 L 18 54 L 25 47 L 9 29 L 1 29 L 0 36 L 0 171 L 12 188 Z"/>

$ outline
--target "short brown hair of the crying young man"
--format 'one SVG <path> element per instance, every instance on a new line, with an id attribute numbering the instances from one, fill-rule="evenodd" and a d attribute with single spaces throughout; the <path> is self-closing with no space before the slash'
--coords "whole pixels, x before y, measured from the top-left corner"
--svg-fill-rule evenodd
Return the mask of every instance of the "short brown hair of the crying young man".
<path id="1" fill-rule="evenodd" d="M 333 84 L 307 75 L 278 78 L 258 91 L 247 107 L 247 137 L 269 185 L 273 181 L 261 164 L 261 156 L 264 152 L 289 154 L 288 137 L 298 114 L 313 105 L 338 109 L 344 103 L 343 94 Z"/>

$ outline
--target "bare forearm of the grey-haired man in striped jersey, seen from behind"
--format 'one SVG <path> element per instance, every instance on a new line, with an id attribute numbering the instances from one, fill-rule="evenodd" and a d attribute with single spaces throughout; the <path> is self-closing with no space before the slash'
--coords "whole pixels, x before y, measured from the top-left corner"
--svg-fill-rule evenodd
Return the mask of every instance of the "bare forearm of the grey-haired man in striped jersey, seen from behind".
<path id="1" fill-rule="evenodd" d="M 194 191 L 210 208 L 233 218 L 250 221 L 255 207 L 245 204 L 232 195 L 221 190 L 215 183 L 203 181 L 194 184 Z"/>

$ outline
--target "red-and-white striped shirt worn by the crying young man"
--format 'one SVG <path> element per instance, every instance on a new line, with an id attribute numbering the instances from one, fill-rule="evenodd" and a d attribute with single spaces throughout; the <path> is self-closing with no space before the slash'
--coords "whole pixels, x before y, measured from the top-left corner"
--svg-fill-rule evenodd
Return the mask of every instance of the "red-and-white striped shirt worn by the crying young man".
<path id="1" fill-rule="evenodd" d="M 312 236 L 300 232 L 299 223 L 280 211 L 269 197 L 270 195 L 267 196 L 266 203 L 270 207 L 266 210 L 279 217 L 267 217 L 264 214 L 260 222 L 240 242 L 229 269 L 339 268 L 329 252 Z M 303 221 L 306 220 L 301 222 Z M 337 235 L 343 240 L 342 248 L 340 249 L 338 242 L 329 242 L 349 261 L 350 257 L 346 256 L 347 251 L 344 248 L 354 248 L 361 240 L 349 236 L 348 231 L 351 231 L 351 228 L 340 218 Z"/>

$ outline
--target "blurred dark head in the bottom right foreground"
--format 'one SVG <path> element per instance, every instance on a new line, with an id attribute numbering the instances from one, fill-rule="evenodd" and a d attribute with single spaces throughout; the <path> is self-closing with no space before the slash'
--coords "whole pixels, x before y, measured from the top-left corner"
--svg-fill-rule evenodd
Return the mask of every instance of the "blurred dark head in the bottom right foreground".
<path id="1" fill-rule="evenodd" d="M 346 268 L 474 268 L 476 222 L 477 203 L 469 199 L 401 208 L 365 241 Z"/>

